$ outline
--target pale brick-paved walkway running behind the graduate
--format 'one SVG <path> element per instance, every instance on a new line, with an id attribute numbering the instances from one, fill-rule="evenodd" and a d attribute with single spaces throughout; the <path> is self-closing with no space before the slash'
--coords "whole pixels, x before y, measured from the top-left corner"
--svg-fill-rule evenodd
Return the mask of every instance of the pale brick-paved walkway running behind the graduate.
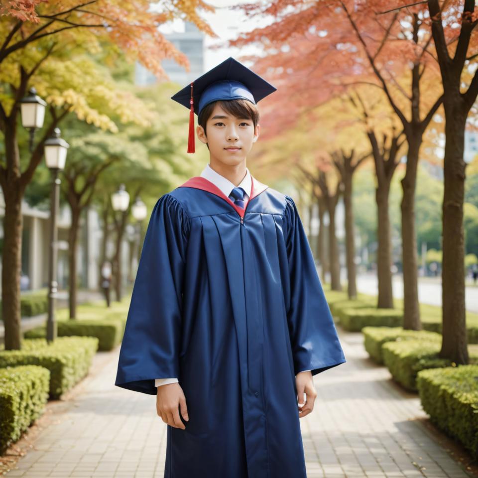
<path id="1" fill-rule="evenodd" d="M 367 359 L 362 335 L 339 332 L 348 361 L 314 377 L 315 409 L 300 421 L 308 478 L 475 477 L 445 450 L 456 446 L 438 444 L 417 396 Z M 154 395 L 113 385 L 118 353 L 97 354 L 69 399 L 49 403 L 49 422 L 6 477 L 163 478 L 166 425 Z"/>

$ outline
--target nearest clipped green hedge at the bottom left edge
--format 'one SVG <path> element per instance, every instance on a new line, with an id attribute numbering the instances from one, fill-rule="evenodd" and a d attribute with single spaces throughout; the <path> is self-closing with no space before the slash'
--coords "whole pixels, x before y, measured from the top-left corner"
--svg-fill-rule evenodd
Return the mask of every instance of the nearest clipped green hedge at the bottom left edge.
<path id="1" fill-rule="evenodd" d="M 0 368 L 0 454 L 43 413 L 49 381 L 36 365 Z"/>

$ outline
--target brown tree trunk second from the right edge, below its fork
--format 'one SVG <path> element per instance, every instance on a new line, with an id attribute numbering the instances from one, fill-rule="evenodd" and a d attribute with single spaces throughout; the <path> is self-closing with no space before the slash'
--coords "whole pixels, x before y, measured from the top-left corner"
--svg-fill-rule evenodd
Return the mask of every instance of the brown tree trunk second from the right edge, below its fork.
<path id="1" fill-rule="evenodd" d="M 407 168 L 401 180 L 403 197 L 400 204 L 403 262 L 403 328 L 421 330 L 418 305 L 418 254 L 415 232 L 415 189 L 418 151 L 421 138 L 408 138 Z"/>

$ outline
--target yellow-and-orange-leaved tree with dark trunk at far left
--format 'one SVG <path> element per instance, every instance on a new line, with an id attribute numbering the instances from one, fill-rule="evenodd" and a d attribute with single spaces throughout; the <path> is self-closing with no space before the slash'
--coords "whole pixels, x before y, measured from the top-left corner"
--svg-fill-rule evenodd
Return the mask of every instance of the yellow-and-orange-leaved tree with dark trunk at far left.
<path id="1" fill-rule="evenodd" d="M 104 49 L 106 64 L 124 54 L 161 77 L 164 58 L 185 66 L 188 60 L 157 30 L 160 24 L 180 17 L 212 34 L 196 12 L 197 8 L 212 8 L 202 0 L 164 2 L 159 11 L 149 8 L 151 4 L 145 0 L 70 0 L 58 6 L 46 0 L 19 0 L 1 6 L 0 130 L 4 159 L 0 162 L 0 185 L 5 200 L 2 315 L 6 350 L 20 348 L 21 200 L 43 157 L 44 142 L 70 112 L 115 131 L 116 124 L 95 108 L 99 99 L 110 102 L 121 117 L 135 114 L 121 101 L 124 97 L 116 98 L 115 90 L 106 88 L 102 78 L 92 74 L 84 53 Z M 17 125 L 20 101 L 31 85 L 50 107 L 47 125 L 22 170 L 25 161 L 20 160 Z"/>

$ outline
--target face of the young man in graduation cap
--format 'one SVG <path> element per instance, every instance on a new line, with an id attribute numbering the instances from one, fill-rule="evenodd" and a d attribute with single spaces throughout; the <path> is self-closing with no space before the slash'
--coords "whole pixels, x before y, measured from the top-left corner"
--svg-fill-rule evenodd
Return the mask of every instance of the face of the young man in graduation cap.
<path id="1" fill-rule="evenodd" d="M 257 124 L 254 129 L 252 119 L 232 116 L 217 104 L 206 123 L 207 137 L 202 126 L 196 129 L 199 139 L 208 143 L 213 160 L 236 165 L 245 161 L 259 137 L 260 126 Z"/>

